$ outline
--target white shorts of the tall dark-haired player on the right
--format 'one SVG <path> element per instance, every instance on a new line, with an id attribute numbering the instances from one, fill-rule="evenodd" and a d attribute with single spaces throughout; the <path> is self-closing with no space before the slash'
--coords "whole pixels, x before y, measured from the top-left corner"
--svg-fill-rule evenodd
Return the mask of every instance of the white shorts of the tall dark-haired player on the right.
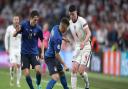
<path id="1" fill-rule="evenodd" d="M 86 67 L 89 67 L 90 58 L 91 58 L 91 49 L 86 49 L 86 47 L 84 47 L 82 50 L 80 50 L 79 46 L 75 47 L 75 51 L 73 53 L 73 61 L 85 65 Z"/>

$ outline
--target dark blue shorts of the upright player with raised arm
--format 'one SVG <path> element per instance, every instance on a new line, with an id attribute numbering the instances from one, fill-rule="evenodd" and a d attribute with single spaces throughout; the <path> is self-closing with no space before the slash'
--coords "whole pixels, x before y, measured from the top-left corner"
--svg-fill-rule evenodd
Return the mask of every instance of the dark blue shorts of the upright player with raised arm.
<path id="1" fill-rule="evenodd" d="M 32 69 L 34 69 L 36 65 L 40 65 L 38 56 L 31 54 L 21 54 L 22 70 L 25 68 L 30 69 L 30 65 L 32 66 Z"/>

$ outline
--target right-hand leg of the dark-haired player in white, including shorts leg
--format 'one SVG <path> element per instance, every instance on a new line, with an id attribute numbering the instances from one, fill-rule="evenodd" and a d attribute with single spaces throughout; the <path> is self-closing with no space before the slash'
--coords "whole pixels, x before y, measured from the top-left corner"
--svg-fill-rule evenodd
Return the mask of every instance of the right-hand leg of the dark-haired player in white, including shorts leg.
<path id="1" fill-rule="evenodd" d="M 79 66 L 79 73 L 83 80 L 85 81 L 86 88 L 89 89 L 89 79 L 88 79 L 88 74 L 87 70 L 90 64 L 90 51 L 85 51 L 84 54 L 82 54 L 82 60 L 81 60 L 81 65 Z"/>

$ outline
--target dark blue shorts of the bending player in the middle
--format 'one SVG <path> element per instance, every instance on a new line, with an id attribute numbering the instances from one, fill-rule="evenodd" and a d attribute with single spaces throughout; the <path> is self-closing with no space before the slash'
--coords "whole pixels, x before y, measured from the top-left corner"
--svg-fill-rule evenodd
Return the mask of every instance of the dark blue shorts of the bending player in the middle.
<path id="1" fill-rule="evenodd" d="M 63 67 L 57 59 L 45 57 L 45 62 L 48 66 L 50 75 L 63 71 Z"/>

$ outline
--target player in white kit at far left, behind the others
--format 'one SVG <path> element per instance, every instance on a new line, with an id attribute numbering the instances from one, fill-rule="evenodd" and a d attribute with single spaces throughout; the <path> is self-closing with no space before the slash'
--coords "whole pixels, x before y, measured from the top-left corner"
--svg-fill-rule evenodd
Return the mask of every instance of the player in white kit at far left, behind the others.
<path id="1" fill-rule="evenodd" d="M 14 75 L 17 76 L 17 87 L 20 87 L 20 78 L 21 78 L 21 35 L 18 34 L 17 37 L 13 37 L 13 33 L 16 30 L 15 27 L 19 25 L 19 16 L 13 17 L 13 24 L 9 25 L 5 34 L 5 49 L 9 54 L 10 59 L 10 86 L 14 85 Z M 16 73 L 15 73 L 16 72 Z"/>

